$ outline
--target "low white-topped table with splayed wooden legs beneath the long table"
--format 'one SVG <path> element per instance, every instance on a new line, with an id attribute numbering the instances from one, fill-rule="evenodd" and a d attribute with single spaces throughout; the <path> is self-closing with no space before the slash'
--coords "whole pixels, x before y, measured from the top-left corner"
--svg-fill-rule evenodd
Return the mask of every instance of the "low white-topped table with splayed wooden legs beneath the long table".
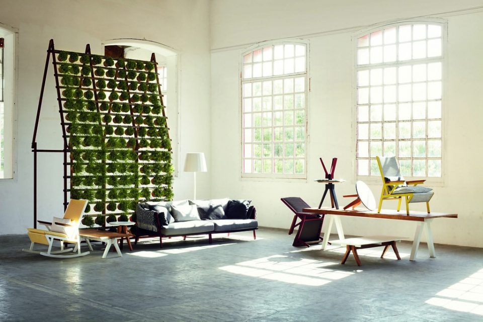
<path id="1" fill-rule="evenodd" d="M 400 241 L 401 239 L 408 239 L 407 237 L 396 237 L 396 236 L 368 236 L 368 237 L 354 237 L 354 238 L 346 238 L 340 240 L 331 240 L 331 244 L 346 246 L 346 253 L 342 258 L 341 264 L 345 264 L 349 255 L 354 255 L 354 259 L 358 266 L 361 266 L 361 260 L 359 259 L 359 255 L 357 255 L 357 250 L 365 249 L 365 248 L 373 248 L 373 247 L 382 247 L 384 246 L 384 250 L 382 251 L 381 258 L 387 252 L 389 246 L 392 247 L 394 254 L 396 254 L 397 260 L 400 260 L 399 252 L 397 251 L 396 241 Z"/>

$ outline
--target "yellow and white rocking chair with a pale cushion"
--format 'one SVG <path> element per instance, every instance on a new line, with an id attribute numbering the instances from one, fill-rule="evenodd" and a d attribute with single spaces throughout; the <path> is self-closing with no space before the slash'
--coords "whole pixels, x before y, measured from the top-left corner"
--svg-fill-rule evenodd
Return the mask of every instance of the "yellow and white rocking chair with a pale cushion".
<path id="1" fill-rule="evenodd" d="M 46 230 L 28 228 L 28 235 L 31 241 L 30 249 L 24 249 L 23 251 L 56 258 L 70 258 L 89 254 L 90 252 L 81 253 L 81 238 L 79 237 L 79 224 L 81 223 L 82 214 L 86 210 L 87 203 L 87 200 L 71 199 L 63 218 L 55 219 L 54 217 L 53 223 L 38 221 L 47 227 Z M 56 220 L 63 222 L 57 222 Z M 60 241 L 60 251 L 52 251 L 54 240 Z M 64 243 L 75 244 L 75 247 L 73 249 L 63 249 Z M 47 252 L 34 251 L 35 244 L 47 245 Z M 74 252 L 74 254 L 58 255 L 67 252 Z"/>

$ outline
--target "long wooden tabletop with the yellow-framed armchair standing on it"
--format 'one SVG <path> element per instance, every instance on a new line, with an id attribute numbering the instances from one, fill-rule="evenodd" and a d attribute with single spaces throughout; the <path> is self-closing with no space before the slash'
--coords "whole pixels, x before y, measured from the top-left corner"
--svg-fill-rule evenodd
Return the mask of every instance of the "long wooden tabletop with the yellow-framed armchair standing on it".
<path id="1" fill-rule="evenodd" d="M 406 210 L 396 211 L 390 209 L 381 209 L 380 213 L 377 211 L 369 211 L 367 209 L 354 209 L 343 210 L 334 208 L 303 208 L 303 212 L 325 214 L 325 215 L 341 215 L 341 216 L 354 216 L 354 217 L 369 217 L 369 218 L 382 218 L 382 219 L 397 219 L 397 220 L 410 220 L 410 221 L 424 221 L 425 219 L 432 218 L 458 218 L 456 213 L 444 213 L 444 212 L 431 212 L 424 211 L 410 211 L 409 215 L 406 214 Z"/>

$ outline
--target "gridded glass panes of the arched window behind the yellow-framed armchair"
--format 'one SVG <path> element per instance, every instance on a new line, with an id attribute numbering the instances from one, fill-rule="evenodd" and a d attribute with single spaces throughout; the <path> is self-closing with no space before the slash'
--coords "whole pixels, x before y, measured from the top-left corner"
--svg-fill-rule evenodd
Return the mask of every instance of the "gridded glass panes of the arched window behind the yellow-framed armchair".
<path id="1" fill-rule="evenodd" d="M 407 177 L 441 177 L 443 24 L 404 22 L 356 38 L 357 174 L 395 155 Z"/>

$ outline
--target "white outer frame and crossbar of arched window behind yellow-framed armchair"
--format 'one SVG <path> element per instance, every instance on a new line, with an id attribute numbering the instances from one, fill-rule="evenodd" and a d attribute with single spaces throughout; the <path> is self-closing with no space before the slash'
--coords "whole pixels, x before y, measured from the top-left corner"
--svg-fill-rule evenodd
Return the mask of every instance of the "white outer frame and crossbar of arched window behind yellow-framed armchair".
<path id="1" fill-rule="evenodd" d="M 440 25 L 442 27 L 442 30 L 441 30 L 441 39 L 442 39 L 442 54 L 441 56 L 438 56 L 438 57 L 426 57 L 426 58 L 420 58 L 420 59 L 408 59 L 408 60 L 403 60 L 403 61 L 399 61 L 399 60 L 395 60 L 393 62 L 387 62 L 387 63 L 378 63 L 378 64 L 371 64 L 370 62 L 368 64 L 362 64 L 362 65 L 358 65 L 357 64 L 357 53 L 358 53 L 358 38 L 364 36 L 364 35 L 369 35 L 370 33 L 373 33 L 373 32 L 376 32 L 376 31 L 379 31 L 379 30 L 383 30 L 385 28 L 391 28 L 391 27 L 398 27 L 398 26 L 401 26 L 401 25 L 409 25 L 409 24 L 428 24 L 428 25 Z M 427 182 L 431 183 L 431 184 L 435 184 L 435 185 L 443 185 L 444 184 L 444 174 L 445 174 L 445 166 L 446 166 L 446 162 L 445 162 L 445 153 L 444 153 L 444 146 L 445 146 L 445 133 L 444 133 L 444 129 L 445 129 L 445 126 L 444 126 L 444 120 L 445 120 L 445 102 L 446 102 L 446 95 L 445 95 L 445 83 L 447 82 L 447 77 L 446 77 L 446 73 L 447 73 L 447 39 L 448 39 L 448 32 L 447 32 L 447 21 L 446 20 L 443 20 L 443 19 L 433 19 L 433 18 L 424 18 L 424 19 L 420 19 L 420 18 L 415 18 L 415 19 L 408 19 L 408 20 L 404 20 L 404 21 L 397 21 L 397 22 L 393 22 L 393 23 L 388 23 L 388 24 L 384 24 L 384 25 L 379 25 L 377 27 L 372 27 L 370 29 L 365 29 L 357 34 L 354 34 L 353 35 L 353 59 L 354 59 L 354 78 L 353 78 L 353 122 L 355 124 L 355 126 L 353 127 L 354 128 L 354 132 L 353 132 L 353 137 L 354 137 L 354 142 L 355 142 L 355 145 L 354 145 L 354 151 L 355 151 L 355 163 L 354 163 L 354 174 L 356 176 L 356 178 L 358 180 L 363 180 L 363 181 L 366 181 L 368 183 L 379 183 L 380 182 L 380 174 L 379 174 L 379 171 L 377 171 L 376 174 L 373 174 L 371 175 L 370 174 L 370 166 L 369 166 L 369 175 L 368 176 L 363 176 L 363 175 L 359 175 L 359 172 L 358 172 L 358 133 L 357 133 L 357 129 L 358 129 L 358 76 L 357 76 L 357 72 L 361 69 L 368 69 L 368 68 L 373 68 L 373 67 L 388 67 L 388 66 L 400 66 L 400 65 L 413 65 L 413 64 L 417 64 L 417 63 L 430 63 L 430 62 L 433 62 L 433 61 L 441 61 L 441 66 L 442 66 L 442 74 L 441 74 L 441 83 L 442 83 L 442 88 L 441 88 L 441 92 L 442 92 L 442 96 L 441 96 L 441 176 L 440 177 L 428 177 L 428 173 L 426 173 L 426 176 L 425 177 L 417 177 L 417 176 L 408 176 L 406 175 L 405 178 L 407 180 L 418 180 L 418 179 L 425 179 L 427 180 Z M 397 84 L 397 82 L 396 82 Z M 413 82 L 409 83 L 409 84 L 413 84 Z M 426 100 L 427 102 L 428 100 Z M 397 103 L 397 100 L 396 100 L 396 103 Z M 383 104 L 383 103 L 382 103 Z M 370 105 L 370 103 L 369 103 Z M 396 115 L 397 115 L 397 112 L 396 112 Z M 424 119 L 426 122 L 428 121 L 428 115 L 427 115 L 427 109 L 426 109 L 426 118 Z M 382 120 L 381 121 L 382 123 L 384 123 L 384 121 Z M 411 118 L 411 131 L 413 130 L 413 120 Z M 398 156 L 398 150 L 397 150 L 397 137 L 398 137 L 398 127 L 397 127 L 397 119 L 396 119 L 396 139 L 395 139 L 395 142 L 396 142 L 396 157 Z M 427 130 L 427 129 L 426 129 Z M 370 132 L 369 132 L 369 135 L 370 135 Z M 383 139 L 382 139 L 383 140 Z M 426 146 L 427 146 L 427 140 L 428 140 L 428 137 L 427 137 L 427 131 L 426 131 Z M 410 139 L 411 142 L 413 142 L 413 138 Z M 370 142 L 370 138 L 368 139 L 368 142 Z M 370 143 L 369 143 L 370 144 Z M 412 144 L 411 144 L 412 146 Z M 367 157 L 362 157 L 362 158 L 367 158 Z M 413 159 L 413 154 L 411 154 L 411 160 Z M 372 157 L 369 155 L 369 161 L 372 159 Z M 374 158 L 375 159 L 375 158 Z M 426 156 L 424 158 L 425 160 L 428 160 L 428 156 Z M 411 165 L 412 167 L 412 165 Z M 426 166 L 427 168 L 427 166 Z M 403 174 L 404 175 L 404 174 Z"/>

